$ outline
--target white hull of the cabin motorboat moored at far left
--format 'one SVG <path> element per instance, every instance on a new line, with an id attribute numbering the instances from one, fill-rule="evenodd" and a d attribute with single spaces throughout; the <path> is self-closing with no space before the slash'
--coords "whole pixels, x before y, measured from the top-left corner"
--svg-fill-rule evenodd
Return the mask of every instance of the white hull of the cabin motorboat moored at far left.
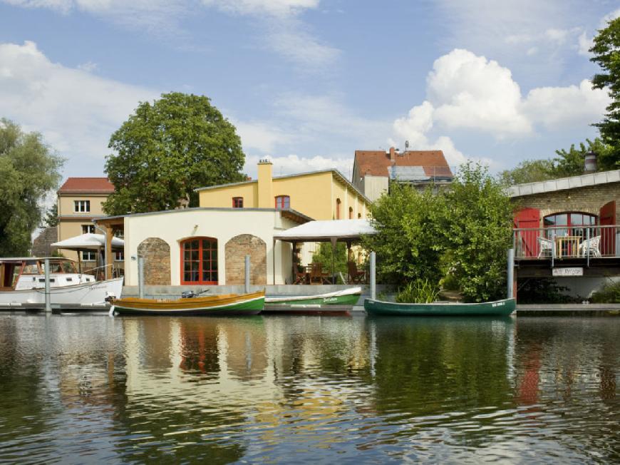
<path id="1" fill-rule="evenodd" d="M 92 305 L 103 304 L 110 295 L 120 296 L 123 278 L 88 282 L 84 284 L 51 287 L 51 304 Z M 45 289 L 11 290 L 0 292 L 0 307 L 19 307 L 22 304 L 45 304 Z"/>

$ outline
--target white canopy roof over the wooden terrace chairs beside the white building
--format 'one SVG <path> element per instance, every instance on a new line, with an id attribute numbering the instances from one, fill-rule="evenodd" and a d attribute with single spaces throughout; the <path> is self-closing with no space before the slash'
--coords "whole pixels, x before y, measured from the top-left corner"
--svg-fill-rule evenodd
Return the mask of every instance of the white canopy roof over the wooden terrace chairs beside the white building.
<path id="1" fill-rule="evenodd" d="M 274 239 L 287 242 L 322 242 L 358 239 L 362 235 L 376 234 L 368 220 L 309 221 L 295 228 L 274 235 Z"/>

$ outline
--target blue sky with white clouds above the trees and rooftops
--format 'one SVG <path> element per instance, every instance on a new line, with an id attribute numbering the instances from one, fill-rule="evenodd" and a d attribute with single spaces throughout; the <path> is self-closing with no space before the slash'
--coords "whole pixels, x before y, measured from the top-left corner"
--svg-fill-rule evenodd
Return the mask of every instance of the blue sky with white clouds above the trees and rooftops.
<path id="1" fill-rule="evenodd" d="M 138 103 L 208 96 L 245 173 L 337 168 L 355 150 L 443 150 L 492 172 L 597 135 L 588 49 L 620 16 L 590 0 L 0 0 L 0 117 L 63 178 L 105 175 Z"/>

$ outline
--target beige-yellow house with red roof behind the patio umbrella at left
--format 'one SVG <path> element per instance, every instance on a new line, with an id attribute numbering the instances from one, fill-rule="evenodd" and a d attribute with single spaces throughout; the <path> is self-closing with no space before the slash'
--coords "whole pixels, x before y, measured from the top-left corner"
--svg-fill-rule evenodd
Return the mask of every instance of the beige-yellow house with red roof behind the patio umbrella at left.
<path id="1" fill-rule="evenodd" d="M 58 189 L 58 241 L 85 233 L 101 233 L 95 230 L 93 218 L 104 215 L 101 205 L 114 192 L 108 178 L 68 178 Z M 78 252 L 60 250 L 65 257 L 78 260 Z M 122 263 L 123 253 L 117 252 L 115 261 Z M 82 252 L 86 267 L 94 267 L 95 252 Z"/>

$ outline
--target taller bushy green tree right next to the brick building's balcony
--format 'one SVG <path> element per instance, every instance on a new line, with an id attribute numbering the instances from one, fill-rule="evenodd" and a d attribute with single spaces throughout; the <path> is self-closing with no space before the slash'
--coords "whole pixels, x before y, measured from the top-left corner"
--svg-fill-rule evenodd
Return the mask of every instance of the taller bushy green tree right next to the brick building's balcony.
<path id="1" fill-rule="evenodd" d="M 502 183 L 487 168 L 465 163 L 444 197 L 448 206 L 440 228 L 444 269 L 467 301 L 504 297 L 512 204 Z"/>

